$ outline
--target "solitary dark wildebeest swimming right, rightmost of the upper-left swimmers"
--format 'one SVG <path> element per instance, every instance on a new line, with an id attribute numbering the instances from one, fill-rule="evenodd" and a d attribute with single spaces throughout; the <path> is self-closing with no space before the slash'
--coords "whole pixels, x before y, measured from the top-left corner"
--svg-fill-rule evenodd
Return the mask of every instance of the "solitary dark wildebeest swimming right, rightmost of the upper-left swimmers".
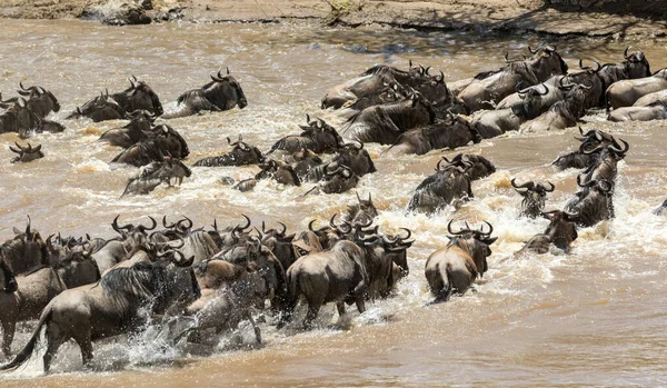
<path id="1" fill-rule="evenodd" d="M 218 74 L 210 74 L 211 82 L 180 94 L 176 100 L 176 108 L 167 111 L 162 118 L 192 116 L 205 110 L 222 111 L 236 106 L 239 109 L 246 108 L 248 100 L 241 84 L 229 73 L 229 68 L 227 68 L 227 76 L 222 76 L 221 71 L 220 69 Z"/>

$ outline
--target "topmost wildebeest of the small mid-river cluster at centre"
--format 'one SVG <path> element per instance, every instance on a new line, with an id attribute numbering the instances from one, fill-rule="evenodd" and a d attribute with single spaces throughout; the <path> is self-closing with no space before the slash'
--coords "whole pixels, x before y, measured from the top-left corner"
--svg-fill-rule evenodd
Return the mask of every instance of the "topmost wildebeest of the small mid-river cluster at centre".
<path id="1" fill-rule="evenodd" d="M 342 146 L 342 138 L 336 129 L 329 126 L 325 120 L 310 120 L 310 116 L 306 115 L 307 126 L 300 126 L 303 130 L 300 135 L 286 136 L 278 140 L 271 150 L 287 151 L 289 153 L 303 152 L 311 150 L 316 153 L 331 153 Z"/>

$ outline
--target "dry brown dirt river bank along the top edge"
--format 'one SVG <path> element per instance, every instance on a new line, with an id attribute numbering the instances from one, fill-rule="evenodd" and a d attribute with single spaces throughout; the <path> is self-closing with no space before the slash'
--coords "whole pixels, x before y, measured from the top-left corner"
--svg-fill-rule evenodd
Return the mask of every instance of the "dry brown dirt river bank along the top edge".
<path id="1" fill-rule="evenodd" d="M 125 10 L 122 13 L 141 6 L 152 20 L 272 22 L 312 19 L 351 27 L 384 23 L 484 32 L 667 36 L 664 0 L 3 0 L 0 17 L 103 19 L 113 17 L 117 10 Z"/>

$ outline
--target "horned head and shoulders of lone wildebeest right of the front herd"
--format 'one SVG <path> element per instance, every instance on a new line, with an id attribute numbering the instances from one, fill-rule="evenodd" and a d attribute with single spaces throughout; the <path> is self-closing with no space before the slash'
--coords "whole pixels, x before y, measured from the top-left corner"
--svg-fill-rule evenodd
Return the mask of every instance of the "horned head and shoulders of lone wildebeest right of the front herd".
<path id="1" fill-rule="evenodd" d="M 480 277 L 484 277 L 484 272 L 488 269 L 487 257 L 491 256 L 490 245 L 498 239 L 497 237 L 491 237 L 494 227 L 485 221 L 489 227 L 489 231 L 484 231 L 484 225 L 479 229 L 470 229 L 466 222 L 466 228 L 454 231 L 451 229 L 452 222 L 454 219 L 447 225 L 447 231 L 452 235 L 451 237 L 448 236 L 450 239 L 448 246 L 455 245 L 467 251 L 472 258 L 472 261 L 475 261 L 477 273 Z"/>

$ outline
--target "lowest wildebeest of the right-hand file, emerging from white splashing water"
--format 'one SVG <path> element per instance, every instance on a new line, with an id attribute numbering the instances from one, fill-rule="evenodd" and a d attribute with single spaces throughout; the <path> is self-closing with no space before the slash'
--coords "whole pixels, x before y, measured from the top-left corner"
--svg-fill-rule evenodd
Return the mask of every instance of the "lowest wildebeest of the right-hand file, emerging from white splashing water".
<path id="1" fill-rule="evenodd" d="M 549 245 L 569 252 L 570 243 L 579 237 L 575 222 L 579 215 L 561 210 L 542 212 L 541 216 L 549 220 L 549 226 L 544 233 L 532 236 L 521 250 L 516 255 L 532 252 L 544 255 L 549 251 Z"/>

